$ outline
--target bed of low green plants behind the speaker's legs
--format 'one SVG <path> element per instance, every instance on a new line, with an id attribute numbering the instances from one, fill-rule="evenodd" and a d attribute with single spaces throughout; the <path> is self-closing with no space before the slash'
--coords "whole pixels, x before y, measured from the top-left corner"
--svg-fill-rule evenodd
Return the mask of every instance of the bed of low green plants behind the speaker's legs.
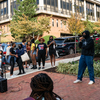
<path id="1" fill-rule="evenodd" d="M 77 75 L 78 65 L 79 65 L 79 61 L 72 62 L 72 63 L 59 63 L 56 71 L 63 74 Z M 94 61 L 94 75 L 95 77 L 100 77 L 100 61 Z M 86 68 L 84 72 L 84 76 L 89 76 L 88 68 Z"/>

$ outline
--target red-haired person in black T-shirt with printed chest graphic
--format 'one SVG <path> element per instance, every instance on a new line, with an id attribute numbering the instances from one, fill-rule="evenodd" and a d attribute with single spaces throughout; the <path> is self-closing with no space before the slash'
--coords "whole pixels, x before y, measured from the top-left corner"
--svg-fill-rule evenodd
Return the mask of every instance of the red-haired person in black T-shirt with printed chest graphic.
<path id="1" fill-rule="evenodd" d="M 41 64 L 41 59 L 42 59 L 42 69 L 44 69 L 45 66 L 45 56 L 47 56 L 47 45 L 44 43 L 44 39 L 40 38 L 39 39 L 40 43 L 37 46 L 37 57 L 38 57 L 38 64 L 39 64 L 39 70 L 41 69 L 40 64 Z"/>

